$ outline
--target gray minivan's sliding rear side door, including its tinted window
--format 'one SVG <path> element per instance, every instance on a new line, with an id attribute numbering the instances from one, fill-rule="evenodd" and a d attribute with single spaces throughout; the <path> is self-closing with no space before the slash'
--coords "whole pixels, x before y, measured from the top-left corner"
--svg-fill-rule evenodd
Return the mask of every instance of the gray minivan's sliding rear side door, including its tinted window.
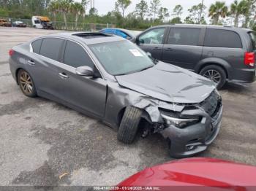
<path id="1" fill-rule="evenodd" d="M 201 36 L 201 28 L 170 28 L 163 46 L 162 61 L 193 70 L 203 52 Z"/>

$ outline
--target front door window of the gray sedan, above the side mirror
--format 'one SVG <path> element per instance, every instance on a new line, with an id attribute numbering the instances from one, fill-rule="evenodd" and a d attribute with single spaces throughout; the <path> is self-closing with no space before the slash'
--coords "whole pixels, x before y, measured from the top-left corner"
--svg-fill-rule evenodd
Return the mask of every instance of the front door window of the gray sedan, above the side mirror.
<path id="1" fill-rule="evenodd" d="M 83 47 L 71 41 L 67 41 L 64 53 L 64 63 L 74 68 L 90 66 L 94 69 L 94 63 L 91 61 L 91 58 L 86 51 L 83 50 Z"/>

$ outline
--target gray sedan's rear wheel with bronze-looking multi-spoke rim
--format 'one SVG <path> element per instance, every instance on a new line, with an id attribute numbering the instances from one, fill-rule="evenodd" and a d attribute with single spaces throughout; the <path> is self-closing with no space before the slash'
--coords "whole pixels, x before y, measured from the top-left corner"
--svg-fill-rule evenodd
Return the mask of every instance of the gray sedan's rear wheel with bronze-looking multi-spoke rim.
<path id="1" fill-rule="evenodd" d="M 18 71 L 18 84 L 24 95 L 34 98 L 37 96 L 36 87 L 29 73 L 23 69 Z"/>

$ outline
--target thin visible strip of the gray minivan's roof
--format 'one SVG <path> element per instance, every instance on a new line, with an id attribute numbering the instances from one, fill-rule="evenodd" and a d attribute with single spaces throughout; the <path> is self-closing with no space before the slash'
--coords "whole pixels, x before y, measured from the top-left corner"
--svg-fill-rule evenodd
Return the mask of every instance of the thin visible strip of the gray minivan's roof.
<path id="1" fill-rule="evenodd" d="M 222 29 L 228 31 L 252 31 L 249 28 L 236 28 L 233 26 L 214 26 L 214 25 L 199 25 L 199 24 L 174 24 L 174 25 L 162 25 L 162 26 L 154 26 L 154 28 L 159 27 L 181 27 L 181 28 L 213 28 L 213 29 Z"/>

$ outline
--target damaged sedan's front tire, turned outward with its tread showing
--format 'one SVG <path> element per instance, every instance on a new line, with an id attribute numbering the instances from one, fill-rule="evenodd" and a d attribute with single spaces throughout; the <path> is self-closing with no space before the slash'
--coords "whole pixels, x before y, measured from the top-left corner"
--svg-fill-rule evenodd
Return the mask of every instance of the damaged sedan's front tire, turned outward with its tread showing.
<path id="1" fill-rule="evenodd" d="M 124 144 L 131 144 L 138 132 L 142 111 L 133 106 L 125 109 L 124 116 L 118 129 L 117 139 Z"/>

